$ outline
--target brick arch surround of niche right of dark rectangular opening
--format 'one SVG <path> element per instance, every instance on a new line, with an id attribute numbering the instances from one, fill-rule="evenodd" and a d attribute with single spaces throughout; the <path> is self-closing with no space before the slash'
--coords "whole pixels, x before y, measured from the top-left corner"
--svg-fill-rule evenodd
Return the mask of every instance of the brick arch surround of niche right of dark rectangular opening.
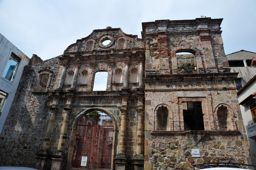
<path id="1" fill-rule="evenodd" d="M 227 128 L 226 129 L 224 129 L 223 127 L 220 127 L 221 122 L 219 122 L 218 120 L 218 109 L 220 109 L 221 111 L 221 109 L 223 109 L 224 107 L 227 108 Z M 231 109 L 230 105 L 227 105 L 226 103 L 219 103 L 214 108 L 214 119 L 215 119 L 217 130 L 238 130 L 234 117 L 236 117 L 236 114 Z"/>

